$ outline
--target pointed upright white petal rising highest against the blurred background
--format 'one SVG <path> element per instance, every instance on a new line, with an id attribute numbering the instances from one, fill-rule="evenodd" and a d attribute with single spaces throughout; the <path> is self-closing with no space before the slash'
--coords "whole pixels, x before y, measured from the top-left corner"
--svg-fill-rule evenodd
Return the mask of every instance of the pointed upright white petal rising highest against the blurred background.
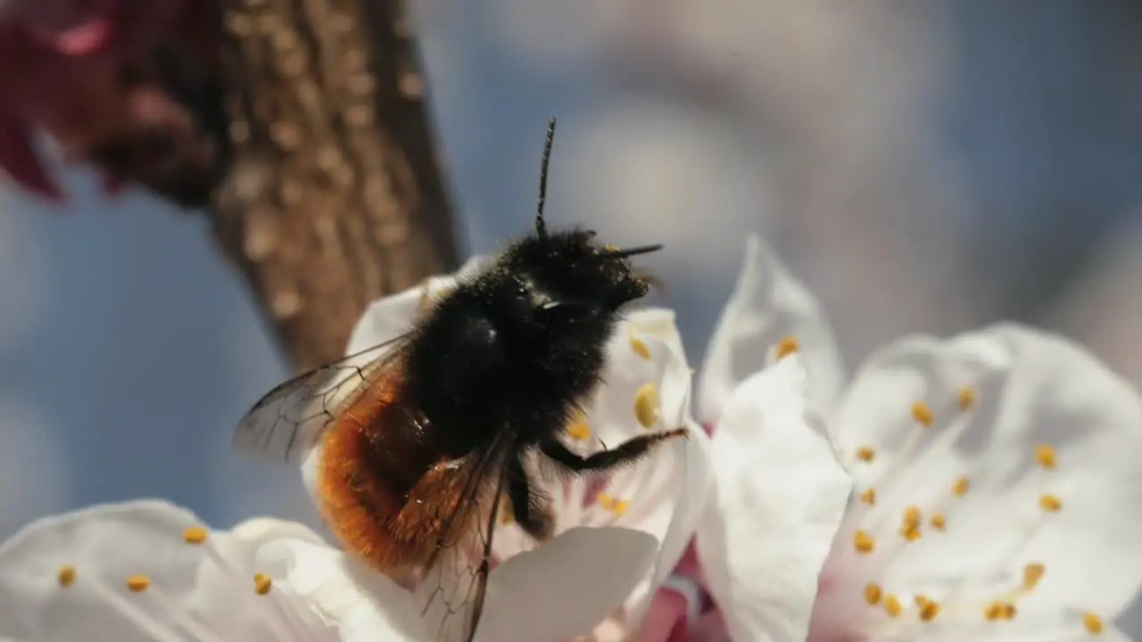
<path id="1" fill-rule="evenodd" d="M 742 379 L 772 361 L 783 337 L 797 339 L 810 372 L 810 400 L 831 409 L 844 366 L 828 320 L 813 295 L 757 236 L 746 243 L 738 283 L 706 351 L 698 385 L 698 419 L 714 422 Z"/>

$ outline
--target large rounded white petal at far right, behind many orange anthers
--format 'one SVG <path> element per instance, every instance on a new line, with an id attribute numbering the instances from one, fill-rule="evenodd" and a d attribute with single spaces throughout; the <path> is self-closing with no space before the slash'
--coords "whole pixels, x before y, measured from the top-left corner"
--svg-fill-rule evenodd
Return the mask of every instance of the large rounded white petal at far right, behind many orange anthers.
<path id="1" fill-rule="evenodd" d="M 965 385 L 974 390 L 966 410 Z M 916 401 L 928 404 L 930 427 L 912 418 Z M 946 515 L 943 532 L 877 544 L 886 591 L 956 585 L 962 599 L 988 599 L 1018 586 L 1030 562 L 1046 573 L 1021 610 L 1117 613 L 1139 589 L 1142 402 L 1078 345 L 1016 326 L 901 340 L 862 369 L 835 427 L 846 455 L 876 451 L 852 464 L 858 489 L 877 492 L 861 528 L 893 533 L 909 505 Z M 1054 448 L 1054 470 L 1036 464 L 1038 444 Z M 955 497 L 959 475 L 970 488 Z M 1062 511 L 1045 513 L 1043 493 Z"/>

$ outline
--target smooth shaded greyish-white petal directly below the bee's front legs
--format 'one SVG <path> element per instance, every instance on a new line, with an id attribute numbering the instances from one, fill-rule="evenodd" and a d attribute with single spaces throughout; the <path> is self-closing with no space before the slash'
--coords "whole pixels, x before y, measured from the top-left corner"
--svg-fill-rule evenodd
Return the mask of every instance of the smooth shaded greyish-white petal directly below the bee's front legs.
<path id="1" fill-rule="evenodd" d="M 638 530 L 574 528 L 497 567 L 481 642 L 564 640 L 592 631 L 653 568 L 658 541 Z"/>

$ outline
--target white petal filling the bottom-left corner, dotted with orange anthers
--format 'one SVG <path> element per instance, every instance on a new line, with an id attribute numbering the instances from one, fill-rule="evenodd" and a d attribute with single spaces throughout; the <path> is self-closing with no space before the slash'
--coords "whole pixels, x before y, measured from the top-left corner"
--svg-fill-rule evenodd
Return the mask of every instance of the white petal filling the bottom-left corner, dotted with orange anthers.
<path id="1" fill-rule="evenodd" d="M 283 627 L 276 597 L 257 595 L 249 544 L 225 531 L 184 540 L 201 527 L 188 511 L 158 500 L 102 505 L 40 520 L 0 546 L 0 635 L 29 640 L 202 640 L 305 636 Z M 59 569 L 74 568 L 64 586 Z M 216 567 L 223 572 L 202 572 Z M 132 593 L 126 580 L 150 585 Z M 224 604 L 225 608 L 218 608 Z M 305 624 L 305 623 L 303 623 Z"/>

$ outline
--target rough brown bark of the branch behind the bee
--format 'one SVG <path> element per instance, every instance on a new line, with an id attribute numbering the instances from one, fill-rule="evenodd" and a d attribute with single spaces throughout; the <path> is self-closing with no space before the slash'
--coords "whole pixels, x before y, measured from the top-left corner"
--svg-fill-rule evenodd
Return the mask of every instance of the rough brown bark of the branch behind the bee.
<path id="1" fill-rule="evenodd" d="M 215 231 L 297 369 L 368 303 L 457 265 L 416 42 L 395 0 L 222 0 Z"/>

